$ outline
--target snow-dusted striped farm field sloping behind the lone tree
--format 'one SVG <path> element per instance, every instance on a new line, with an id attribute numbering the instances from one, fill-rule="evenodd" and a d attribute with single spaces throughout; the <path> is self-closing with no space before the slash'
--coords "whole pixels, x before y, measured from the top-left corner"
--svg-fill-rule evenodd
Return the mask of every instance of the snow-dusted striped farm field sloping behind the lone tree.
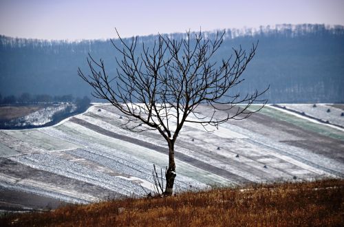
<path id="1" fill-rule="evenodd" d="M 208 108 L 199 110 L 207 116 Z M 343 124 L 338 108 L 287 108 Z M 0 189 L 73 203 L 153 191 L 153 164 L 164 169 L 167 144 L 156 131 L 122 129 L 120 116 L 98 105 L 53 127 L 1 130 Z M 344 177 L 343 151 L 343 130 L 269 106 L 214 133 L 185 125 L 175 146 L 175 190 Z"/>

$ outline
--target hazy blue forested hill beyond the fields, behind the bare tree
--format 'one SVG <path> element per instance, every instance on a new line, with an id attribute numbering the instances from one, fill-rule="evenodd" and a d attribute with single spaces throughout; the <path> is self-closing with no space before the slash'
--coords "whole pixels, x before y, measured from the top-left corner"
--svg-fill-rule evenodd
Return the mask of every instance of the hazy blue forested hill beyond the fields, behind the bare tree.
<path id="1" fill-rule="evenodd" d="M 180 39 L 184 34 L 169 36 Z M 155 38 L 140 36 L 139 41 L 149 46 Z M 269 102 L 344 102 L 343 26 L 228 29 L 215 60 L 229 56 L 232 47 L 248 49 L 258 40 L 257 54 L 244 73 L 246 80 L 237 87 L 241 94 L 270 85 L 266 94 Z M 109 40 L 68 42 L 0 36 L 0 94 L 87 96 L 90 89 L 77 76 L 78 67 L 88 72 L 87 53 L 103 58 L 107 72 L 115 76 L 118 53 Z"/>

